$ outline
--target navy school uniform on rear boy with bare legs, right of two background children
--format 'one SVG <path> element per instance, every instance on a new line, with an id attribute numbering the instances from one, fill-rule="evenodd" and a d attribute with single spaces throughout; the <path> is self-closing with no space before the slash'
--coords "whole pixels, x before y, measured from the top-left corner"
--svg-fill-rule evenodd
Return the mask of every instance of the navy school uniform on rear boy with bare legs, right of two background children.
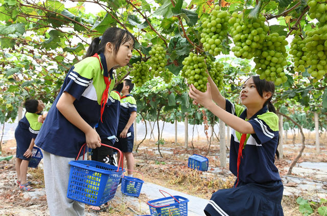
<path id="1" fill-rule="evenodd" d="M 121 98 L 121 113 L 119 116 L 118 130 L 116 137 L 118 142 L 114 144 L 115 148 L 120 149 L 122 152 L 132 152 L 134 145 L 134 127 L 133 124 L 129 127 L 126 138 L 119 137 L 124 130 L 132 112 L 137 111 L 135 98 L 128 94 Z"/>

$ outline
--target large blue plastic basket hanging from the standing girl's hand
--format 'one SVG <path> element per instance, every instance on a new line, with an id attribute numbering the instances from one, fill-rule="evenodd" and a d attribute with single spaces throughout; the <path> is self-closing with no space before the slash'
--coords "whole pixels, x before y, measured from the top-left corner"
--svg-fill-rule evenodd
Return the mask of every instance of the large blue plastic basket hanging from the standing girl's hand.
<path id="1" fill-rule="evenodd" d="M 125 170 L 95 160 L 72 160 L 67 198 L 100 206 L 114 197 Z"/>

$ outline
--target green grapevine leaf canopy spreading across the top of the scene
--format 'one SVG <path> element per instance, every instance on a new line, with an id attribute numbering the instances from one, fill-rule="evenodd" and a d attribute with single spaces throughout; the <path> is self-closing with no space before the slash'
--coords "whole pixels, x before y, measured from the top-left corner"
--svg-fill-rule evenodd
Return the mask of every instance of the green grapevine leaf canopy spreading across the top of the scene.
<path id="1" fill-rule="evenodd" d="M 278 33 L 280 36 L 287 36 L 290 30 L 297 27 L 300 30 L 322 29 L 321 24 L 313 22 L 305 11 L 308 9 L 305 0 L 301 0 L 298 5 L 298 1 L 291 0 L 261 0 L 258 4 L 256 1 L 245 0 L 227 2 L 230 5 L 223 5 L 226 2 L 222 2 L 220 12 L 227 13 L 228 18 L 229 14 L 236 12 L 242 19 L 250 20 L 248 24 L 254 23 L 254 20 L 263 15 L 268 22 L 271 17 L 279 15 L 279 23 L 269 25 L 270 35 Z M 126 28 L 135 36 L 134 47 L 137 50 L 133 51 L 129 66 L 137 61 L 144 61 L 151 67 L 151 48 L 156 44 L 165 48 L 167 64 L 165 62 L 162 74 L 151 77 L 151 80 L 135 88 L 133 92 L 138 111 L 142 112 L 147 120 L 156 120 L 159 117 L 160 120 L 170 122 L 174 118 L 181 121 L 185 113 L 188 113 L 189 117 L 194 117 L 195 124 L 202 122 L 203 116 L 194 112 L 197 107 L 192 104 L 187 93 L 188 88 L 181 78 L 182 62 L 190 52 L 210 56 L 213 62 L 216 59 L 224 65 L 221 92 L 226 98 L 238 102 L 242 83 L 246 77 L 254 74 L 252 60 L 224 55 L 211 56 L 203 50 L 203 44 L 200 42 L 202 30 L 199 19 L 211 18 L 209 14 L 217 4 L 201 0 L 192 0 L 190 4 L 183 0 L 175 0 L 174 4 L 169 0 L 158 0 L 155 3 L 148 4 L 145 0 L 94 3 L 82 1 L 75 6 L 68 6 L 55 0 L 44 3 L 1 0 L 0 122 L 13 121 L 17 116 L 18 106 L 27 97 L 52 103 L 69 68 L 82 60 L 91 39 L 102 35 L 109 26 Z M 296 5 L 297 7 L 293 8 Z M 101 6 L 103 10 L 86 13 L 86 9 L 93 6 Z M 288 11 L 286 17 L 281 15 L 291 8 L 293 9 Z M 303 11 L 305 14 L 300 17 Z M 294 26 L 297 19 L 300 19 L 299 25 Z M 227 31 L 230 31 L 230 27 L 229 25 Z M 303 31 L 301 34 L 299 37 L 306 37 Z M 228 32 L 228 35 L 232 34 Z M 232 54 L 230 39 L 226 36 L 221 40 L 221 51 L 226 55 Z M 294 115 L 292 117 L 296 121 L 303 123 L 306 120 L 308 123 L 302 125 L 308 128 L 314 125 L 313 114 L 309 111 L 317 111 L 320 117 L 319 125 L 325 126 L 327 77 L 324 75 L 319 82 L 313 82 L 316 80 L 311 78 L 308 68 L 298 73 L 290 59 L 287 59 L 287 62 L 284 71 L 287 82 L 276 87 L 276 108 L 287 115 Z M 129 72 L 130 70 L 127 71 Z M 166 77 L 164 73 L 170 72 L 176 77 L 166 84 L 162 76 Z M 300 116 L 301 113 L 305 115 Z M 212 114 L 206 112 L 206 115 L 210 122 L 213 119 Z M 291 122 L 285 121 L 285 125 L 288 123 L 289 127 L 294 127 Z"/>

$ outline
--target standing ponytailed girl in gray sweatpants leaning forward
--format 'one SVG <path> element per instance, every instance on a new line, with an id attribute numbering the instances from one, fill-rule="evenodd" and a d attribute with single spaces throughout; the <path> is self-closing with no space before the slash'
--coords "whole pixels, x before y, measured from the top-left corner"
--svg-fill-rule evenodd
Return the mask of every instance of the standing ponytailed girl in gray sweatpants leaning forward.
<path id="1" fill-rule="evenodd" d="M 125 66 L 132 57 L 134 37 L 109 28 L 92 40 L 85 58 L 67 73 L 35 140 L 43 149 L 46 199 L 51 215 L 84 215 L 84 204 L 68 199 L 69 161 L 81 146 L 101 146 L 94 129 L 102 121 L 108 94 L 114 86 L 112 68 Z"/>

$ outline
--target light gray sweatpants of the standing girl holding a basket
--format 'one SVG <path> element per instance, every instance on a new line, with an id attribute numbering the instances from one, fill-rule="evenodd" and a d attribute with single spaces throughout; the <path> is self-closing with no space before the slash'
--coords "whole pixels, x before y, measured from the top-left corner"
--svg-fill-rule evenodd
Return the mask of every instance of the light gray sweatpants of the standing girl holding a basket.
<path id="1" fill-rule="evenodd" d="M 84 159 L 87 159 L 86 155 Z M 46 201 L 48 201 L 50 215 L 52 216 L 84 215 L 84 204 L 66 197 L 71 169 L 71 165 L 68 163 L 71 160 L 75 160 L 75 158 L 57 156 L 43 151 Z"/>

